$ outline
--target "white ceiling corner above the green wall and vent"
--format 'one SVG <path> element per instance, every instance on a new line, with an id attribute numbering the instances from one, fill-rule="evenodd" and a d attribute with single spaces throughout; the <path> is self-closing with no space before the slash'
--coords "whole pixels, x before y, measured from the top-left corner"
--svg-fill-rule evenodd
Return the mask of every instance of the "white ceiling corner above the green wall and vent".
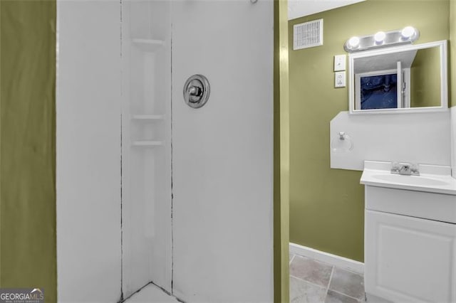
<path id="1" fill-rule="evenodd" d="M 288 19 L 309 16 L 321 11 L 336 9 L 341 6 L 355 4 L 365 0 L 289 0 Z"/>

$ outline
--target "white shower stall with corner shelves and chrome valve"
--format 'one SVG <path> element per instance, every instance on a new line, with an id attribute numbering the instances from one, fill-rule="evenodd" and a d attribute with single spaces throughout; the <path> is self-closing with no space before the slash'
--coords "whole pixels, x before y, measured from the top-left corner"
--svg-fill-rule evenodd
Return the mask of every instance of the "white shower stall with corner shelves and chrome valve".
<path id="1" fill-rule="evenodd" d="M 57 4 L 58 301 L 272 302 L 274 2 Z"/>

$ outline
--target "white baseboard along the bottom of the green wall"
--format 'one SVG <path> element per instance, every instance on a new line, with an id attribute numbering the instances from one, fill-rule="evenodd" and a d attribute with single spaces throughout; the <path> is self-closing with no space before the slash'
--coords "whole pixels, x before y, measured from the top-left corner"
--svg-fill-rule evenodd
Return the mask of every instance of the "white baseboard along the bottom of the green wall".
<path id="1" fill-rule="evenodd" d="M 311 257 L 314 260 L 326 262 L 331 265 L 341 267 L 351 272 L 358 272 L 364 274 L 364 263 L 355 260 L 348 259 L 346 257 L 340 257 L 333 255 L 328 252 L 322 252 L 320 250 L 314 250 L 314 248 L 308 248 L 299 244 L 290 243 L 290 253 L 293 255 L 302 255 L 304 257 Z"/>

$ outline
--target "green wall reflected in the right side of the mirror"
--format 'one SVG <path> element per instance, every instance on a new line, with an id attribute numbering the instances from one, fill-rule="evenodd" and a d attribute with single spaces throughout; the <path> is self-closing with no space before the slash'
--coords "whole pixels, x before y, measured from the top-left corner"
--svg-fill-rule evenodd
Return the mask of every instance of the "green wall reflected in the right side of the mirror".
<path id="1" fill-rule="evenodd" d="M 410 68 L 410 107 L 440 106 L 440 48 L 418 50 Z"/>

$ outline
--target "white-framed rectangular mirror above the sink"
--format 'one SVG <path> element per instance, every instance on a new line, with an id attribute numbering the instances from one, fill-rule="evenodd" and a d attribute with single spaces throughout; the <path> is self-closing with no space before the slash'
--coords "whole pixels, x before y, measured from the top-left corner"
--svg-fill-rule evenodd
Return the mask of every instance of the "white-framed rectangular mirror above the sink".
<path id="1" fill-rule="evenodd" d="M 446 110 L 447 41 L 351 53 L 351 114 Z"/>

